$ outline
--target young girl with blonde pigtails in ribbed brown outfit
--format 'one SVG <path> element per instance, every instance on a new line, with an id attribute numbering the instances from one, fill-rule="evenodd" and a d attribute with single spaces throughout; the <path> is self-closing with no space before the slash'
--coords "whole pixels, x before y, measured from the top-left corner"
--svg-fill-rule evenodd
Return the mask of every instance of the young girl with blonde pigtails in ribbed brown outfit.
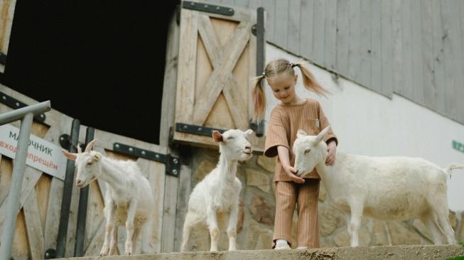
<path id="1" fill-rule="evenodd" d="M 264 156 L 276 158 L 276 219 L 272 248 L 291 249 L 291 223 L 295 205 L 298 205 L 297 244 L 298 249 L 320 247 L 318 222 L 319 175 L 316 170 L 299 178 L 293 168 L 295 156 L 293 142 L 298 129 L 317 135 L 329 125 L 319 102 L 303 99 L 295 92 L 298 75 L 293 67 L 299 67 L 303 85 L 307 90 L 325 96 L 330 93 L 315 81 L 313 74 L 304 63 L 290 63 L 286 59 L 274 60 L 264 70 L 262 76 L 254 79 L 252 95 L 254 99 L 254 121 L 261 121 L 266 109 L 263 80 L 266 79 L 274 97 L 281 102 L 271 112 L 266 136 Z M 330 130 L 325 137 L 328 144 L 326 165 L 335 162 L 338 139 Z"/>

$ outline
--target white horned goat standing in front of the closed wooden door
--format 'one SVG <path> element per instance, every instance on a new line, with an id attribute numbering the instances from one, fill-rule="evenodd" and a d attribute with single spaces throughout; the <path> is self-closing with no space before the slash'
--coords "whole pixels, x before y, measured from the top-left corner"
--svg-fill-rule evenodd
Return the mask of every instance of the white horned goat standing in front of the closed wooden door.
<path id="1" fill-rule="evenodd" d="M 63 153 L 76 161 L 77 187 L 84 188 L 97 178 L 107 183 L 107 193 L 104 196 L 107 226 L 100 256 L 114 254 L 118 227 L 124 224 L 127 232 L 125 254 L 134 254 L 141 227 L 153 215 L 154 202 L 150 183 L 134 161 L 107 158 L 101 153 L 91 151 L 96 141 L 97 139 L 91 141 L 84 153 L 80 146 L 77 146 L 78 153 Z"/>

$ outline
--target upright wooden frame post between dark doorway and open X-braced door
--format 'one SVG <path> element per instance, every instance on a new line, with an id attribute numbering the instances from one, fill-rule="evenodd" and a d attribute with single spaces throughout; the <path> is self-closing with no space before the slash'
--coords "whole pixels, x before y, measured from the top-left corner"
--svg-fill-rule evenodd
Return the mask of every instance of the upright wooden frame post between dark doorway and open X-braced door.
<path id="1" fill-rule="evenodd" d="M 159 143 L 168 146 L 169 128 L 174 126 L 176 112 L 176 79 L 179 52 L 179 26 L 176 22 L 176 14 L 173 14 L 168 28 L 168 44 L 166 46 L 166 65 L 163 80 L 163 99 L 161 104 L 161 129 Z"/>

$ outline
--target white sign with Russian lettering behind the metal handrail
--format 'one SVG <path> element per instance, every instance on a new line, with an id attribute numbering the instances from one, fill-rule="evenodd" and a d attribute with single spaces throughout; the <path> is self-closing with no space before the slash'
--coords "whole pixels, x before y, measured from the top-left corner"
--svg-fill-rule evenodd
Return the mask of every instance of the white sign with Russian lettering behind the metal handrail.
<path id="1" fill-rule="evenodd" d="M 19 129 L 4 124 L 0 126 L 0 153 L 9 158 L 15 158 L 18 145 Z M 44 173 L 48 173 L 60 180 L 65 180 L 66 158 L 61 152 L 62 148 L 49 141 L 31 134 L 29 139 L 26 164 Z"/>

